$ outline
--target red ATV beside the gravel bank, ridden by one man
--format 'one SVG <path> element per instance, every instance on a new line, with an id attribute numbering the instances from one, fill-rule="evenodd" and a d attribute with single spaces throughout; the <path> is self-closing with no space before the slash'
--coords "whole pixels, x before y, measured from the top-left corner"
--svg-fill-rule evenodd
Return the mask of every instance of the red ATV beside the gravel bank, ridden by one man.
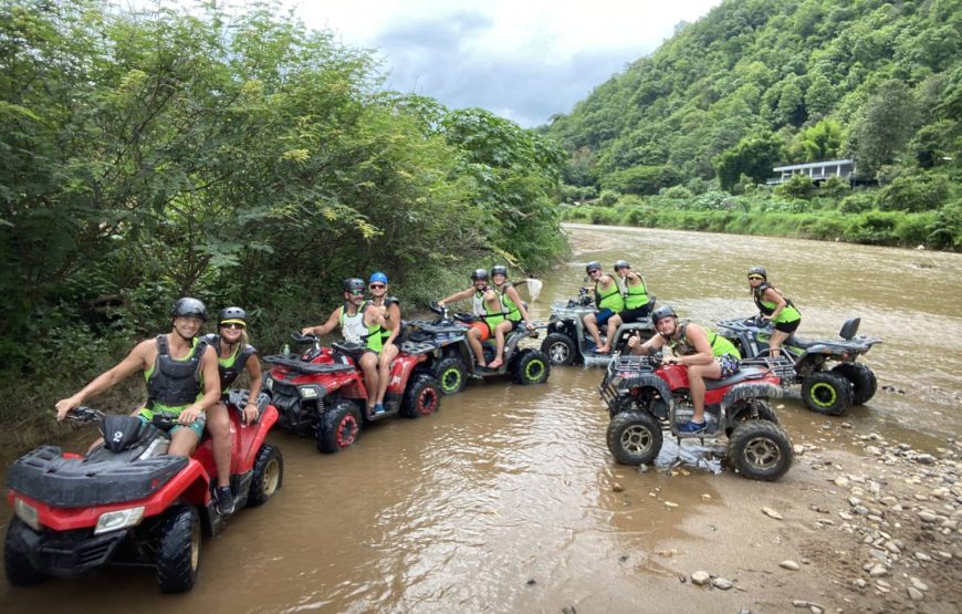
<path id="1" fill-rule="evenodd" d="M 746 478 L 774 481 L 792 467 L 788 435 L 768 405 L 782 396 L 778 376 L 761 363 L 742 362 L 724 379 L 705 379 L 708 429 L 681 433 L 693 413 L 688 367 L 656 356 L 615 355 L 602 382 L 608 406 L 607 443 L 624 465 L 650 464 L 661 450 L 662 430 L 682 438 L 729 438 L 729 460 Z"/>

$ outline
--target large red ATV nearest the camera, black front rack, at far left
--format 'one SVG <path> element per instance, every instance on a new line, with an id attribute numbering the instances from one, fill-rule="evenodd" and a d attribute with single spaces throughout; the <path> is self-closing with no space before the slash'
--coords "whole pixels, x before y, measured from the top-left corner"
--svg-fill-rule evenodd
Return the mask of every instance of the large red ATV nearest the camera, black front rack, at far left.
<path id="1" fill-rule="evenodd" d="M 281 450 L 264 443 L 278 412 L 261 395 L 260 417 L 241 422 L 245 395 L 230 412 L 231 490 L 237 508 L 264 503 L 281 488 Z M 216 468 L 208 437 L 190 458 L 168 456 L 170 416 L 153 424 L 79 407 L 77 423 L 97 423 L 104 443 L 85 456 L 41 446 L 7 473 L 14 517 L 7 528 L 3 563 L 13 585 L 46 575 L 72 577 L 105 564 L 154 568 L 165 593 L 197 582 L 200 535 L 218 533 L 226 517 L 212 496 Z M 158 428 L 159 427 L 159 428 Z"/>

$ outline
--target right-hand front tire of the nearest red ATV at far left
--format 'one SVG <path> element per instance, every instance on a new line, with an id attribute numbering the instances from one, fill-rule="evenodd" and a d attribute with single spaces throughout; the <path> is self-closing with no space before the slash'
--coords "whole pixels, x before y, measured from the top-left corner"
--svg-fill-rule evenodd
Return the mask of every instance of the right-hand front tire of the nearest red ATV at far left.
<path id="1" fill-rule="evenodd" d="M 165 593 L 184 593 L 197 582 L 200 566 L 200 517 L 192 507 L 167 512 L 157 548 L 157 582 Z"/>

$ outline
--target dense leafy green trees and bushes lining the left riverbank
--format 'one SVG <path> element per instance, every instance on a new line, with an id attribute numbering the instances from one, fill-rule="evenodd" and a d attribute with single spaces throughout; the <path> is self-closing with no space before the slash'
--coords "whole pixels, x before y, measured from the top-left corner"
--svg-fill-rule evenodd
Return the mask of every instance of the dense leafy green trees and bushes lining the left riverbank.
<path id="1" fill-rule="evenodd" d="M 181 295 L 247 308 L 275 351 L 344 278 L 385 271 L 411 309 L 567 249 L 552 141 L 387 92 L 278 4 L 229 11 L 0 0 L 0 419 L 52 410 Z"/>

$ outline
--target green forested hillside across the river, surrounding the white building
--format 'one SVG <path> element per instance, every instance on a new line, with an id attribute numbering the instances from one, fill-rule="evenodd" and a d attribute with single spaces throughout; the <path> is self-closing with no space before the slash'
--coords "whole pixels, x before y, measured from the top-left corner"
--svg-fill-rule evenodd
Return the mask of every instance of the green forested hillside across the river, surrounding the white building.
<path id="1" fill-rule="evenodd" d="M 962 2 L 726 0 L 545 132 L 566 219 L 959 250 Z"/>

